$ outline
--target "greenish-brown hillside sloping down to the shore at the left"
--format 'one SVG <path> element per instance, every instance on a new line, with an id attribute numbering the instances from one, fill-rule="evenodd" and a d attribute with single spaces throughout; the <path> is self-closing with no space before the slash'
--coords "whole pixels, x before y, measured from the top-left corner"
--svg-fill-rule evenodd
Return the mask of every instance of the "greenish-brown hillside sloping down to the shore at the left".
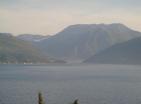
<path id="1" fill-rule="evenodd" d="M 9 33 L 0 33 L 0 63 L 48 63 L 31 43 Z"/>

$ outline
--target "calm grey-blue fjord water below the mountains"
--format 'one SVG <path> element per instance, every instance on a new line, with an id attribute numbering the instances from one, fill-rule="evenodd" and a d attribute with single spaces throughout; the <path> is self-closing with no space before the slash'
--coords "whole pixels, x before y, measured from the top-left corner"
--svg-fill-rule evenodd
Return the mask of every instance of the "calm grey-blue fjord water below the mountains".
<path id="1" fill-rule="evenodd" d="M 0 65 L 0 104 L 141 104 L 141 66 Z"/>

